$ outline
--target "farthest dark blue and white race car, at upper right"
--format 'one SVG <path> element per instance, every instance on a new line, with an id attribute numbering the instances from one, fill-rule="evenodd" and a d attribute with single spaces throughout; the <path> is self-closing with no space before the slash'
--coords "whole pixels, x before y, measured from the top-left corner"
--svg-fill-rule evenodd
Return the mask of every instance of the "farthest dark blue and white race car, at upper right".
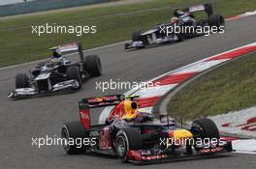
<path id="1" fill-rule="evenodd" d="M 206 12 L 208 18 L 196 19 L 194 15 L 196 12 Z M 135 31 L 132 41 L 126 42 L 124 47 L 125 49 L 144 48 L 150 44 L 181 42 L 184 39 L 209 34 L 213 30 L 223 32 L 224 25 L 224 17 L 220 14 L 213 14 L 210 4 L 192 6 L 184 10 L 175 9 L 171 21 L 157 24 L 146 32 Z M 209 30 L 210 28 L 212 31 Z"/>

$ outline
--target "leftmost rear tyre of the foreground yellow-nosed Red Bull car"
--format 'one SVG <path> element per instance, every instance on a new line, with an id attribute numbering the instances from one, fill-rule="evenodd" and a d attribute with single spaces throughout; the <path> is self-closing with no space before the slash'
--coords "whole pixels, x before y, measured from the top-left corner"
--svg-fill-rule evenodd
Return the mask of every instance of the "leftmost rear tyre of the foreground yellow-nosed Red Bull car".
<path id="1" fill-rule="evenodd" d="M 83 139 L 88 138 L 88 136 L 89 132 L 84 129 L 80 122 L 67 123 L 61 129 L 61 138 L 65 140 L 62 147 L 68 155 L 85 153 L 87 147 L 82 143 Z"/>

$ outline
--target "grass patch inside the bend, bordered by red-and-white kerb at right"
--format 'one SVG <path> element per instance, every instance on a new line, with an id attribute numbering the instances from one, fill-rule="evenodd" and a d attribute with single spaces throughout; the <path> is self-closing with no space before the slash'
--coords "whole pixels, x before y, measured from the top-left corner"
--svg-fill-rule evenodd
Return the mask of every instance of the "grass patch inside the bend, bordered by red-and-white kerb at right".
<path id="1" fill-rule="evenodd" d="M 256 52 L 212 70 L 179 91 L 168 104 L 172 117 L 193 120 L 256 105 Z"/>

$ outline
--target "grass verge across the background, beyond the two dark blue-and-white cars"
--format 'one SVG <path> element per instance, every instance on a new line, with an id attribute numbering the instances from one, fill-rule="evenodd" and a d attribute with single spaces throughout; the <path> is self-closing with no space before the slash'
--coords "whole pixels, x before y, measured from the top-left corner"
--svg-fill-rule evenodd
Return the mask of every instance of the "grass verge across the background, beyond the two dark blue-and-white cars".
<path id="1" fill-rule="evenodd" d="M 122 42 L 131 38 L 134 30 L 146 30 L 159 22 L 170 20 L 171 7 L 187 7 L 204 0 L 152 0 L 135 5 L 123 5 L 79 11 L 25 15 L 0 21 L 0 67 L 46 58 L 48 48 L 59 43 L 82 42 L 85 49 Z M 241 14 L 256 9 L 254 0 L 217 0 L 214 10 L 224 15 Z M 96 25 L 94 35 L 31 34 L 32 25 Z"/>

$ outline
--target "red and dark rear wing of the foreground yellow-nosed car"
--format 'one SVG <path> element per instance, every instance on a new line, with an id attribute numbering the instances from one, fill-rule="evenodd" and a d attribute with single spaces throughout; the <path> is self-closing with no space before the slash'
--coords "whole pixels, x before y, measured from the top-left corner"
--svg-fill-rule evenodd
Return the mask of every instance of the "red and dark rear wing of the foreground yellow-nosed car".
<path id="1" fill-rule="evenodd" d="M 112 105 L 118 105 L 124 99 L 136 99 L 138 95 L 109 95 L 104 97 L 86 98 L 81 99 L 79 102 L 80 107 L 80 122 L 86 130 L 90 130 L 90 108 L 106 107 Z"/>

